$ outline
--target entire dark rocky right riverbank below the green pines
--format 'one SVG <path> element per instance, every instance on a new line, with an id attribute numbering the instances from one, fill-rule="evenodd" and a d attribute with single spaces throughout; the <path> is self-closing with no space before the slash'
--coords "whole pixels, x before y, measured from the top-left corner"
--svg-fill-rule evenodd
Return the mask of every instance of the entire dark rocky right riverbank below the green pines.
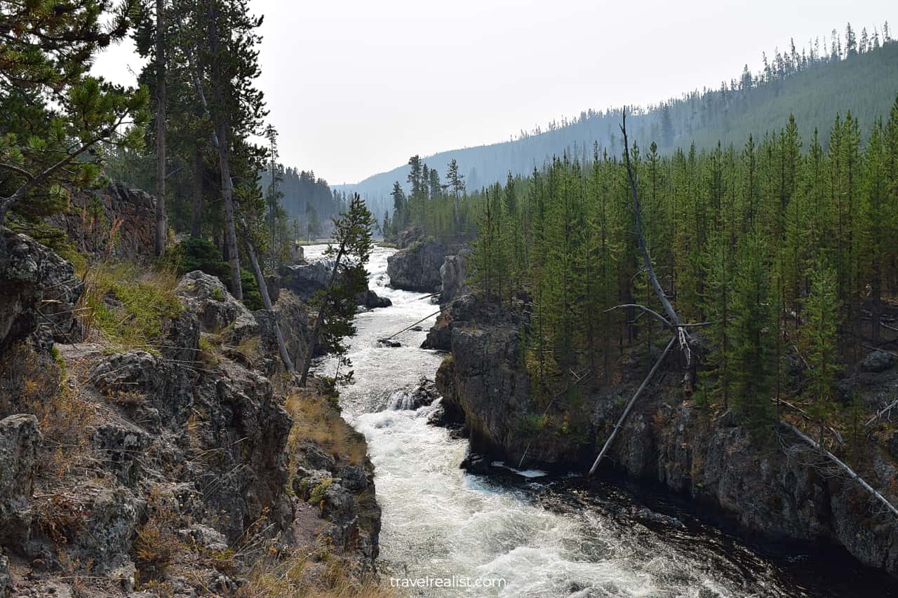
<path id="1" fill-rule="evenodd" d="M 465 296 L 440 316 L 425 347 L 448 351 L 436 375 L 446 418 L 463 422 L 482 464 L 499 459 L 585 471 L 644 375 L 624 353 L 614 383 L 539 396 L 524 368 L 526 318 Z M 880 369 L 871 373 L 863 370 Z M 854 390 L 870 410 L 898 391 L 898 368 L 858 367 Z M 683 400 L 673 371 L 659 376 L 612 445 L 606 468 L 689 497 L 745 534 L 841 545 L 861 563 L 898 576 L 898 522 L 858 484 L 788 432 L 755 437 L 730 413 Z M 891 399 L 890 399 L 891 398 Z M 859 473 L 898 502 L 898 454 L 868 452 Z M 476 461 L 476 460 L 475 460 Z"/>

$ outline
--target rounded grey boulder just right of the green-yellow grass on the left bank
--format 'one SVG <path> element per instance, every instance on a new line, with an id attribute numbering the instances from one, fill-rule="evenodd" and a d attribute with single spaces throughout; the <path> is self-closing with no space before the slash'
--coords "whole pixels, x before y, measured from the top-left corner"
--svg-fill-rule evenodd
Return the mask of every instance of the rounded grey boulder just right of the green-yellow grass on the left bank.
<path id="1" fill-rule="evenodd" d="M 200 270 L 188 272 L 178 282 L 175 295 L 197 315 L 204 331 L 225 331 L 230 344 L 236 345 L 259 332 L 259 322 L 252 312 L 234 299 L 217 277 Z"/>

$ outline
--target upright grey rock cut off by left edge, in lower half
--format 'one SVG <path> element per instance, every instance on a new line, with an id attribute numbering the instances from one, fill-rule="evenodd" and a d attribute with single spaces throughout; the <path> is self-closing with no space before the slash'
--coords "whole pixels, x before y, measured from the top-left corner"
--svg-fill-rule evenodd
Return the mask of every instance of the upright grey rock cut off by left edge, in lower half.
<path id="1" fill-rule="evenodd" d="M 28 539 L 41 440 L 38 418 L 33 415 L 0 420 L 0 542 L 4 544 L 21 545 Z"/>

